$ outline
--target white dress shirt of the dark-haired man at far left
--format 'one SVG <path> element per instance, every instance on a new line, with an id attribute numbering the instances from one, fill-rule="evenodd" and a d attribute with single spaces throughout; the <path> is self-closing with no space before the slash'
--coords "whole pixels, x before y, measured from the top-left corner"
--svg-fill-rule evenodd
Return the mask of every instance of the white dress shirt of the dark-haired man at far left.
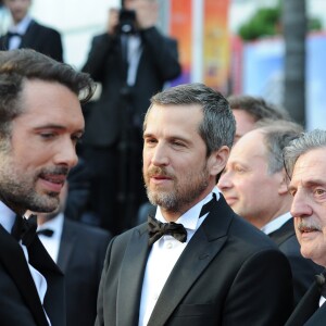
<path id="1" fill-rule="evenodd" d="M 15 222 L 15 216 L 16 216 L 16 214 L 12 210 L 10 210 L 3 202 L 0 201 L 0 224 L 9 234 L 11 234 L 11 229 Z M 23 249 L 23 252 L 24 252 L 28 268 L 30 271 L 32 277 L 34 279 L 39 299 L 40 299 L 41 303 L 43 304 L 46 292 L 48 289 L 47 280 L 43 275 L 41 275 L 36 268 L 34 268 L 29 264 L 28 251 L 27 251 L 26 246 L 24 246 L 22 243 L 22 240 L 20 241 L 20 244 Z M 49 319 L 47 313 L 46 313 L 46 316 L 48 318 L 49 325 L 51 326 L 51 323 L 50 323 L 50 319 Z"/>

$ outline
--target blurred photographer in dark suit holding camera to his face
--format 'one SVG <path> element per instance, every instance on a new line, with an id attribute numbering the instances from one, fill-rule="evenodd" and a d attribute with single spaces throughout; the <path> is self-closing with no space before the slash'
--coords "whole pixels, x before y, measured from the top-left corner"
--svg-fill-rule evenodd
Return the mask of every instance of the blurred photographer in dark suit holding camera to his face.
<path id="1" fill-rule="evenodd" d="M 87 108 L 82 155 L 93 172 L 90 211 L 113 235 L 135 224 L 147 201 L 141 179 L 142 120 L 151 96 L 180 74 L 176 40 L 155 27 L 155 0 L 125 0 L 110 10 L 106 33 L 92 40 L 83 67 L 102 85 Z"/>

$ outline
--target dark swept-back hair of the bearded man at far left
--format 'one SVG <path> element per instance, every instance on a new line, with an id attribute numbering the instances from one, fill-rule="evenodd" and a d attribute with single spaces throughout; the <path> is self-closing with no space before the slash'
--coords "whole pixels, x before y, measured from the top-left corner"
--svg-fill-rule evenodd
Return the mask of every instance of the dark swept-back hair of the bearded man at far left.
<path id="1" fill-rule="evenodd" d="M 11 122 L 24 111 L 20 99 L 28 79 L 60 83 L 83 103 L 92 97 L 96 88 L 88 74 L 34 50 L 0 51 L 0 137 L 9 135 Z"/>

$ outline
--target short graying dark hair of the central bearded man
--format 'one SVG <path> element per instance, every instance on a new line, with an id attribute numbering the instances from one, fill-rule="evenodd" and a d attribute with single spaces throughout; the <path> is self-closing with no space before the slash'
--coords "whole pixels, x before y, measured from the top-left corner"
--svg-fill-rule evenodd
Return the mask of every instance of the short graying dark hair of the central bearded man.
<path id="1" fill-rule="evenodd" d="M 146 128 L 147 117 L 153 104 L 201 105 L 203 120 L 198 126 L 198 131 L 206 145 L 206 154 L 210 155 L 222 146 L 231 148 L 236 122 L 227 100 L 218 91 L 203 84 L 186 84 L 167 88 L 151 98 L 151 105 L 146 114 L 143 128 Z"/>

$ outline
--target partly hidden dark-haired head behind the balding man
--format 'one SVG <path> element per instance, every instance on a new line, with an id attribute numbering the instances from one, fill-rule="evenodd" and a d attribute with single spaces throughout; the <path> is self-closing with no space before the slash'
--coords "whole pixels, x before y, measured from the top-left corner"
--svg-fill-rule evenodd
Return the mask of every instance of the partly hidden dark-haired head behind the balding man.
<path id="1" fill-rule="evenodd" d="M 261 120 L 290 120 L 286 111 L 267 103 L 262 98 L 233 95 L 227 100 L 236 118 L 235 141 L 238 141 L 246 133 L 254 129 L 255 124 Z"/>

